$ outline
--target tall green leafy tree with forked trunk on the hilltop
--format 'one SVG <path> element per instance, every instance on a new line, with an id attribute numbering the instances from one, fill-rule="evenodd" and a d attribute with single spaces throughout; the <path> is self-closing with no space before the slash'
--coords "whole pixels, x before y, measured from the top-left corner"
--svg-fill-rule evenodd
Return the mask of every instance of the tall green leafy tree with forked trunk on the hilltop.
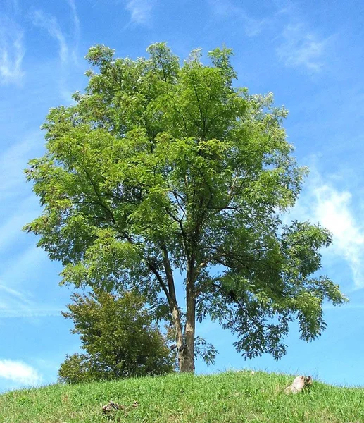
<path id="1" fill-rule="evenodd" d="M 145 295 L 175 327 L 182 371 L 194 371 L 207 316 L 245 357 L 278 359 L 290 321 L 310 341 L 325 329 L 322 302 L 345 301 L 315 273 L 330 233 L 282 223 L 307 173 L 286 140 L 287 111 L 234 87 L 229 49 L 210 51 L 211 65 L 199 50 L 182 65 L 163 43 L 148 51 L 89 49 L 86 92 L 51 109 L 46 154 L 26 171 L 44 209 L 25 229 L 62 262 L 63 283 Z"/>

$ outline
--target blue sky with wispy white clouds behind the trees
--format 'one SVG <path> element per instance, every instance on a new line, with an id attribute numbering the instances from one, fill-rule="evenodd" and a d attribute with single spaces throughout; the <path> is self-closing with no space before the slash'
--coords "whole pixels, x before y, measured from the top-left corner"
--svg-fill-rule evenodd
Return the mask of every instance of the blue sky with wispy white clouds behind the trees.
<path id="1" fill-rule="evenodd" d="M 238 84 L 273 92 L 289 109 L 289 142 L 311 171 L 291 217 L 332 231 L 322 273 L 350 298 L 325 307 L 328 329 L 318 341 L 299 341 L 293 324 L 280 362 L 244 361 L 230 333 L 206 321 L 197 334 L 220 354 L 197 371 L 249 367 L 363 385 L 363 16 L 359 0 L 0 0 L 0 391 L 55 382 L 65 354 L 79 347 L 59 313 L 72 292 L 58 286 L 60 264 L 20 231 L 40 211 L 23 176 L 44 152 L 39 126 L 50 107 L 70 104 L 86 86 L 92 44 L 137 58 L 160 41 L 182 58 L 197 47 L 231 47 Z"/>

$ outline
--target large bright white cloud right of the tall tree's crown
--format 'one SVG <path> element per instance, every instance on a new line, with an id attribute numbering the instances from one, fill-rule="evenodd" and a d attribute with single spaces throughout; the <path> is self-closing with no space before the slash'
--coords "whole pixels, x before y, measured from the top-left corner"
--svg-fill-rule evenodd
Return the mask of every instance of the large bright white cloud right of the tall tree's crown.
<path id="1" fill-rule="evenodd" d="M 291 217 L 308 219 L 332 233 L 327 252 L 349 265 L 356 288 L 364 288 L 364 226 L 353 210 L 349 190 L 340 190 L 322 180 L 315 171 L 308 178 Z"/>

